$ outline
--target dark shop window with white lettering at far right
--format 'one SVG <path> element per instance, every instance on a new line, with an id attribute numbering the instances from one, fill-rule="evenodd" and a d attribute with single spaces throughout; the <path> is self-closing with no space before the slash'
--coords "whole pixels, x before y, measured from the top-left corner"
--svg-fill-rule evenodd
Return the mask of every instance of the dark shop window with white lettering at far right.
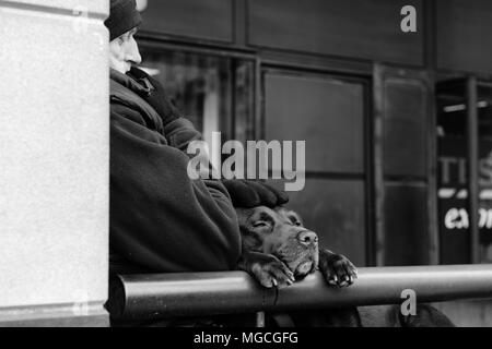
<path id="1" fill-rule="evenodd" d="M 492 85 L 475 84 L 478 142 L 478 245 L 473 245 L 469 215 L 467 82 L 448 81 L 437 86 L 437 195 L 443 264 L 492 262 Z"/>

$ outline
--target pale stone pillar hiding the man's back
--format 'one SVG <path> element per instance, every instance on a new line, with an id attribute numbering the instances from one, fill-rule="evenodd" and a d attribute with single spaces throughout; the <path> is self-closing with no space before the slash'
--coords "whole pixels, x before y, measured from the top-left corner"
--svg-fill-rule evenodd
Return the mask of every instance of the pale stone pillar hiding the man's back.
<path id="1" fill-rule="evenodd" d="M 0 0 L 0 326 L 108 325 L 108 2 Z"/>

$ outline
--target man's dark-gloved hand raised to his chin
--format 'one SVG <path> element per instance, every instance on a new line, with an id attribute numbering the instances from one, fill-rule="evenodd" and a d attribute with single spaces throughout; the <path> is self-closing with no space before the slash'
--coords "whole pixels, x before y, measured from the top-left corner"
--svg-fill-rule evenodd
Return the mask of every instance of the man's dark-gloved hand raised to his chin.
<path id="1" fill-rule="evenodd" d="M 150 87 L 149 94 L 141 97 L 155 109 L 164 125 L 180 117 L 179 111 L 167 98 L 164 87 L 157 80 L 137 67 L 132 67 L 128 75 L 142 85 Z"/>

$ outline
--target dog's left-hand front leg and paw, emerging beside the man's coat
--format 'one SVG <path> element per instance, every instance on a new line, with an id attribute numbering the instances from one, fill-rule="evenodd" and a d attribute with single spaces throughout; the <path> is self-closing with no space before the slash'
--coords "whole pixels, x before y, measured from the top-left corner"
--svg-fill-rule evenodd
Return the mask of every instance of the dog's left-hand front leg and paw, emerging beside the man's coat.
<path id="1" fill-rule="evenodd" d="M 238 268 L 249 273 L 267 288 L 282 288 L 295 281 L 294 274 L 274 255 L 261 252 L 244 252 L 238 262 Z"/>

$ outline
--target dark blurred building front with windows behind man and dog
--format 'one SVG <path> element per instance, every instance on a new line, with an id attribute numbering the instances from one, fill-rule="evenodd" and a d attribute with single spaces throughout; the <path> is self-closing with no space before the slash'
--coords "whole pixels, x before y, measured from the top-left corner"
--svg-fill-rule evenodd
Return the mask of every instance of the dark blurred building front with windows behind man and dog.
<path id="1" fill-rule="evenodd" d="M 306 141 L 289 206 L 321 244 L 359 266 L 492 263 L 492 2 L 139 7 L 142 65 L 206 139 Z M 492 325 L 489 302 L 438 306 Z"/>

